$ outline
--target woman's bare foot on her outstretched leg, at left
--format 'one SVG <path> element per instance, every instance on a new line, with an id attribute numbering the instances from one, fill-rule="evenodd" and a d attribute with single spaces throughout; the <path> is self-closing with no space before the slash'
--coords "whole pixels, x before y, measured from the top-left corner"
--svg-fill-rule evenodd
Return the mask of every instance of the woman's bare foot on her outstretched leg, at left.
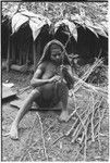
<path id="1" fill-rule="evenodd" d="M 10 137 L 11 139 L 17 140 L 19 139 L 19 129 L 17 126 L 13 123 L 10 129 Z"/>

